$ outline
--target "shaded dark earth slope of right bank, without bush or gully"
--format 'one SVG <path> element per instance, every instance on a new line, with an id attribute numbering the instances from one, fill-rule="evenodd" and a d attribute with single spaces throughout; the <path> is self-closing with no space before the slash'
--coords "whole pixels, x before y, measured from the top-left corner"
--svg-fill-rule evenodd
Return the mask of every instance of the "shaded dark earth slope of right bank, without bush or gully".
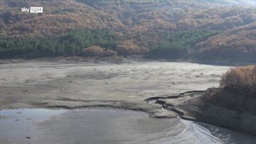
<path id="1" fill-rule="evenodd" d="M 209 89 L 203 96 L 191 98 L 177 108 L 185 112 L 184 118 L 224 126 L 239 132 L 256 134 L 256 99 L 223 89 Z"/>

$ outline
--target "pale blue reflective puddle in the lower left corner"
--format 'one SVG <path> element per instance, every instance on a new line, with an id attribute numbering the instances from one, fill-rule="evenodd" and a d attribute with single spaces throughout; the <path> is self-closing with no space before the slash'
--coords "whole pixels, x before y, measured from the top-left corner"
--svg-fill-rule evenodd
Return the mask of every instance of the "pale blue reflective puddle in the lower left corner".
<path id="1" fill-rule="evenodd" d="M 0 143 L 7 139 L 12 143 L 28 143 L 30 135 L 36 129 L 36 123 L 60 115 L 64 109 L 8 109 L 0 111 Z M 31 137 L 30 137 L 31 138 Z M 5 142 L 5 143 L 7 143 Z"/>

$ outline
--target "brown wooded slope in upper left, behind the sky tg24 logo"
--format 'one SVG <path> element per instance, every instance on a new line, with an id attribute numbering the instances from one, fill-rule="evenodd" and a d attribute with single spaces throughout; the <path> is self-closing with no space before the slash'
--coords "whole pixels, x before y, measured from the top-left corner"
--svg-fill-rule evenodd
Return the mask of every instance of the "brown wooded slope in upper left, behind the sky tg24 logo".
<path id="1" fill-rule="evenodd" d="M 74 29 L 124 27 L 115 16 L 76 1 L 0 1 L 1 35 L 60 35 Z M 21 12 L 22 7 L 42 6 L 43 14 Z"/>

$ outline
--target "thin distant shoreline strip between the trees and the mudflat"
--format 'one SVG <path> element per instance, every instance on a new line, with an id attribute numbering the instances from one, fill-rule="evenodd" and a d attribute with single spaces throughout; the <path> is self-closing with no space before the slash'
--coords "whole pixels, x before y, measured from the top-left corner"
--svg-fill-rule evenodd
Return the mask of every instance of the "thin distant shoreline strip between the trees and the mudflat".
<path id="1" fill-rule="evenodd" d="M 19 63 L 19 62 L 63 62 L 63 63 L 72 63 L 72 62 L 109 62 L 109 63 L 127 63 L 127 62 L 191 62 L 198 63 L 202 65 L 223 65 L 223 66 L 242 66 L 242 65 L 255 65 L 256 60 L 196 60 L 196 59 L 149 59 L 143 58 L 142 56 L 134 57 L 42 57 L 42 58 L 33 58 L 33 59 L 24 59 L 24 58 L 10 58 L 10 59 L 0 59 L 1 64 L 9 63 Z"/>

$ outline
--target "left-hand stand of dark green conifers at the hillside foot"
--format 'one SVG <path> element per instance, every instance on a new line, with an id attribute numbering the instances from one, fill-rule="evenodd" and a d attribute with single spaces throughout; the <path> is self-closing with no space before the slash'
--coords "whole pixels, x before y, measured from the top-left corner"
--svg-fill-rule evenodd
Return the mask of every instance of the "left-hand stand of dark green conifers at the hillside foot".
<path id="1" fill-rule="evenodd" d="M 115 48 L 117 37 L 107 30 L 77 30 L 63 36 L 1 36 L 0 56 L 18 57 L 33 55 L 35 57 L 79 54 L 82 48 L 102 46 Z"/>

